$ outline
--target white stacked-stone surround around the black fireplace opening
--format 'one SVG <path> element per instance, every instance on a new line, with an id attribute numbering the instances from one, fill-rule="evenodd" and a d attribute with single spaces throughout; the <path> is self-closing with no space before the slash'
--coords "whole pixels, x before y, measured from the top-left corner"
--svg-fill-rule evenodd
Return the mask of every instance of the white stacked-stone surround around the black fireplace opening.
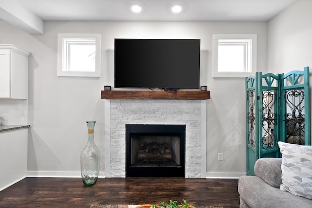
<path id="1" fill-rule="evenodd" d="M 185 177 L 206 174 L 206 100 L 108 100 L 109 148 L 104 152 L 105 177 L 126 175 L 126 124 L 186 125 Z M 106 111 L 106 112 L 107 112 Z"/>

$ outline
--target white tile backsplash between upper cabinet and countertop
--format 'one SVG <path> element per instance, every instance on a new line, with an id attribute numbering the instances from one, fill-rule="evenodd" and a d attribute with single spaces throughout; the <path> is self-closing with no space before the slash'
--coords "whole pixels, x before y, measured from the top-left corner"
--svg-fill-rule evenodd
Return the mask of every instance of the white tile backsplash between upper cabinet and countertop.
<path id="1" fill-rule="evenodd" d="M 27 125 L 28 100 L 0 99 L 2 125 Z"/>

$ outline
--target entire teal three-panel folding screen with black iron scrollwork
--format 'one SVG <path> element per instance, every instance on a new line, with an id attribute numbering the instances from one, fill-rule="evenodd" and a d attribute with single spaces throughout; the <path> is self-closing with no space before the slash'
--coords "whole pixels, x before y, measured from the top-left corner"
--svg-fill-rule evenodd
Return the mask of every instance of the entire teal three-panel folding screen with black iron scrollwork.
<path id="1" fill-rule="evenodd" d="M 277 141 L 310 145 L 309 67 L 245 79 L 247 174 L 261 157 L 280 157 Z"/>

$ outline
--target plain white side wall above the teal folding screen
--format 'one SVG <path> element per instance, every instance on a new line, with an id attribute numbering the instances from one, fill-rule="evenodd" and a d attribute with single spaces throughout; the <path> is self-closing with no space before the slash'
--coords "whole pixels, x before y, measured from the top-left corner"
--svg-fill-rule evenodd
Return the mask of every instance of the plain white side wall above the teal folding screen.
<path id="1" fill-rule="evenodd" d="M 296 0 L 268 22 L 268 71 L 287 73 L 310 67 L 311 82 L 311 11 L 312 0 Z"/>

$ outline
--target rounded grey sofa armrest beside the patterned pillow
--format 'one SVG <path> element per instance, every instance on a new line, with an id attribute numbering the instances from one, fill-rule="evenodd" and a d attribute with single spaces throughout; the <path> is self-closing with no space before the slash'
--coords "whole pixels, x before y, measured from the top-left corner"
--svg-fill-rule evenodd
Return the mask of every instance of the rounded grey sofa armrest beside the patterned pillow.
<path id="1" fill-rule="evenodd" d="M 254 173 L 267 184 L 279 188 L 282 184 L 282 158 L 263 157 L 254 164 Z"/>

